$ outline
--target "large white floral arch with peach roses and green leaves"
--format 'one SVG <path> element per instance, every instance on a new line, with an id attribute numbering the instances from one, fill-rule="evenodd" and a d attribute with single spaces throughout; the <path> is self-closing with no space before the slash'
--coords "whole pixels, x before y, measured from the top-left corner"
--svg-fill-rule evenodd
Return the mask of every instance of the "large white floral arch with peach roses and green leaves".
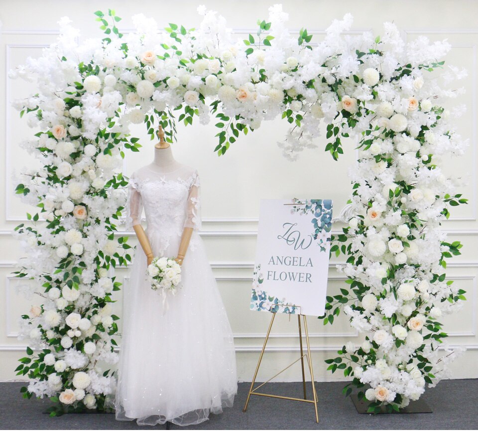
<path id="1" fill-rule="evenodd" d="M 291 158 L 316 146 L 323 123 L 334 159 L 341 138 L 355 138 L 352 218 L 331 249 L 346 258 L 339 270 L 350 290 L 327 297 L 324 324 L 343 310 L 366 339 L 359 348 L 347 343 L 326 361 L 329 369 L 352 376 L 347 395 L 369 385 L 359 397 L 374 411 L 383 404 L 391 411 L 435 385 L 458 355 L 438 356 L 446 336 L 439 317 L 465 299 L 445 279 L 445 260 L 461 244 L 445 242 L 440 221 L 467 200 L 438 163 L 466 145 L 442 106 L 460 94 L 446 85 L 464 72 L 428 74 L 443 67 L 449 44 L 419 37 L 405 45 L 390 23 L 382 37 L 346 36 L 348 14 L 312 46 L 306 29 L 289 33 L 280 5 L 269 11 L 243 41 L 204 8 L 197 30 L 169 24 L 158 32 L 154 20 L 137 15 L 137 30 L 127 35 L 114 11 L 97 11 L 105 37 L 81 44 L 63 18 L 58 41 L 11 72 L 38 83 L 38 94 L 15 103 L 39 127 L 26 146 L 42 164 L 16 188 L 39 208 L 28 215 L 31 224 L 16 228 L 28 247 L 17 275 L 34 280 L 45 298 L 21 320 L 20 338 L 31 344 L 17 372 L 31 378 L 26 397 L 62 405 L 53 415 L 65 406 L 102 410 L 114 390 L 114 377 L 97 363 L 116 362 L 110 302 L 120 284 L 109 271 L 131 259 L 127 238 L 115 238 L 127 185 L 117 168 L 124 148 L 140 146 L 129 123 L 144 123 L 151 137 L 161 124 L 172 142 L 176 122 L 207 123 L 212 114 L 219 155 L 278 115 L 291 124 L 279 144 Z M 45 224 L 36 223 L 40 217 Z"/>

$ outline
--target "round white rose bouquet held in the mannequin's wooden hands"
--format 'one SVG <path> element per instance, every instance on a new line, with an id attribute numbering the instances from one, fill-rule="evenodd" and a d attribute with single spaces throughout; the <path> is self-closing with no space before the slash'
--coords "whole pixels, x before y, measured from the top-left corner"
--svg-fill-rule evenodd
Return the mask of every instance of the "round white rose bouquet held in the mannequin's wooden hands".
<path id="1" fill-rule="evenodd" d="M 153 290 L 175 295 L 181 284 L 181 266 L 173 258 L 155 257 L 148 266 L 148 277 Z"/>

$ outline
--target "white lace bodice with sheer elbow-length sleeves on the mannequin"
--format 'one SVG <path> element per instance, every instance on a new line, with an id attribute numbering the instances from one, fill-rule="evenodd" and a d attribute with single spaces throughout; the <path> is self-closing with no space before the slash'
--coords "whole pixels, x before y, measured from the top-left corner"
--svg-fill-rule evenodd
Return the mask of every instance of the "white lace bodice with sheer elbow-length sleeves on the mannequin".
<path id="1" fill-rule="evenodd" d="M 196 169 L 180 165 L 167 173 L 144 166 L 129 178 L 126 227 L 141 224 L 146 232 L 166 245 L 172 235 L 181 236 L 185 227 L 200 229 L 199 176 Z M 165 247 L 165 246 L 163 246 Z"/>

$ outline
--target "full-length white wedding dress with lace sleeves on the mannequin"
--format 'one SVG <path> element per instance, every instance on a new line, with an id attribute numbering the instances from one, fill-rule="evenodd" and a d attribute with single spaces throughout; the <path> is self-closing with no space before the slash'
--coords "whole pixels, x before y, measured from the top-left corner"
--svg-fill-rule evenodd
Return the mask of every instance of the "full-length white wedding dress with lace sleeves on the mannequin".
<path id="1" fill-rule="evenodd" d="M 129 179 L 128 227 L 146 216 L 154 256 L 178 254 L 184 227 L 194 228 L 181 267 L 182 287 L 167 296 L 151 290 L 146 256 L 138 245 L 125 284 L 119 351 L 117 420 L 138 425 L 186 426 L 232 407 L 237 393 L 231 326 L 199 229 L 197 171 L 180 165 L 168 173 L 145 166 Z"/>

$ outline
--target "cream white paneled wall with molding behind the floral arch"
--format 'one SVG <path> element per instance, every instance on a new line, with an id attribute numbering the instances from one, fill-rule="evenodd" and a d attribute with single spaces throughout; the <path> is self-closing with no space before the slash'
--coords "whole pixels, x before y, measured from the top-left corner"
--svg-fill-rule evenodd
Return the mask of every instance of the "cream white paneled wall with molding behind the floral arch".
<path id="1" fill-rule="evenodd" d="M 201 2 L 223 14 L 229 25 L 237 31 L 238 37 L 252 31 L 257 18 L 265 18 L 268 6 L 273 3 L 272 0 Z M 39 55 L 41 47 L 55 39 L 56 22 L 61 16 L 72 18 L 85 38 L 92 33 L 99 35 L 93 15 L 98 9 L 115 7 L 117 14 L 123 17 L 119 23 L 120 29 L 131 28 L 130 16 L 139 12 L 154 16 L 160 26 L 175 22 L 193 27 L 200 20 L 196 14 L 197 4 L 189 0 L 0 0 L 0 21 L 3 23 L 0 32 L 0 167 L 4 173 L 4 177 L 0 178 L 0 380 L 14 378 L 13 369 L 25 348 L 25 343 L 18 342 L 16 338 L 17 318 L 27 312 L 33 303 L 14 291 L 18 283 L 11 278 L 11 272 L 15 270 L 17 259 L 24 254 L 19 252 L 18 244 L 10 232 L 24 220 L 27 210 L 15 198 L 11 174 L 25 165 L 35 164 L 18 148 L 18 144 L 34 132 L 28 129 L 24 120 L 20 120 L 18 113 L 8 104 L 8 101 L 33 91 L 33 86 L 22 81 L 11 81 L 5 73 L 22 63 L 27 56 Z M 467 104 L 468 113 L 460 122 L 460 130 L 463 136 L 470 138 L 471 146 L 464 156 L 445 162 L 445 167 L 450 171 L 459 171 L 469 182 L 464 188 L 464 196 L 470 199 L 470 205 L 454 210 L 452 218 L 444 225 L 452 240 L 462 240 L 465 245 L 463 255 L 450 261 L 448 273 L 451 279 L 468 291 L 468 302 L 463 311 L 445 320 L 445 330 L 450 334 L 448 342 L 465 345 L 469 349 L 464 357 L 453 364 L 453 377 L 476 377 L 478 26 L 475 17 L 478 14 L 478 2 L 284 0 L 283 6 L 290 13 L 289 28 L 298 31 L 306 27 L 309 33 L 316 34 L 314 39 L 321 38 L 321 32 L 331 20 L 341 18 L 346 12 L 355 16 L 353 31 L 372 30 L 380 34 L 381 23 L 393 20 L 407 39 L 413 39 L 417 34 L 425 34 L 432 40 L 448 38 L 453 49 L 447 62 L 468 69 L 469 76 L 464 82 L 467 94 L 462 101 Z M 201 176 L 202 236 L 235 334 L 240 380 L 250 380 L 252 376 L 270 319 L 267 313 L 248 309 L 259 199 L 294 196 L 333 198 L 338 213 L 350 193 L 347 167 L 354 164 L 356 159 L 353 144 L 345 147 L 345 155 L 339 162 L 334 162 L 330 154 L 323 151 L 326 144 L 324 137 L 324 140 L 317 141 L 318 149 L 305 151 L 298 161 L 291 163 L 282 157 L 276 145 L 286 129 L 287 126 L 279 120 L 264 123 L 253 134 L 241 137 L 221 158 L 213 153 L 216 133 L 213 125 L 196 125 L 192 128 L 179 126 L 179 143 L 173 145 L 176 158 L 196 166 Z M 126 174 L 149 162 L 153 155 L 153 145 L 146 139 L 142 127 L 137 129 L 137 135 L 144 138 L 142 144 L 145 146 L 140 153 L 127 153 L 124 161 Z M 120 269 L 118 275 L 127 286 L 128 270 Z M 330 293 L 335 294 L 343 284 L 343 278 L 335 271 L 334 260 L 329 277 Z M 116 305 L 120 313 L 120 304 Z M 268 375 L 276 373 L 296 358 L 296 317 L 292 316 L 290 321 L 286 315 L 278 317 L 260 379 L 267 379 Z M 362 338 L 350 328 L 345 318 L 333 326 L 323 326 L 320 320 L 310 317 L 309 330 L 316 379 L 343 379 L 341 373 L 331 375 L 327 372 L 323 360 L 335 355 L 343 343 L 352 340 L 359 344 Z M 278 379 L 291 381 L 299 378 L 297 366 Z"/>

